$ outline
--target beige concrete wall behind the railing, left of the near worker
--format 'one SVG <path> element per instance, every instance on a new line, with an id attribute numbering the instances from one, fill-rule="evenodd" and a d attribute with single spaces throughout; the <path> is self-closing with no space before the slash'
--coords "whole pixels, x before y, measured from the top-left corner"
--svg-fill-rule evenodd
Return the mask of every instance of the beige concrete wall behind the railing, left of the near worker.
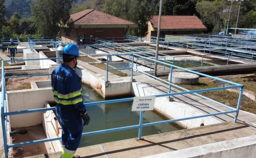
<path id="1" fill-rule="evenodd" d="M 10 112 L 44 107 L 45 101 L 53 101 L 52 88 L 7 91 Z M 33 112 L 10 117 L 11 127 L 29 127 L 42 123 L 41 112 Z"/>

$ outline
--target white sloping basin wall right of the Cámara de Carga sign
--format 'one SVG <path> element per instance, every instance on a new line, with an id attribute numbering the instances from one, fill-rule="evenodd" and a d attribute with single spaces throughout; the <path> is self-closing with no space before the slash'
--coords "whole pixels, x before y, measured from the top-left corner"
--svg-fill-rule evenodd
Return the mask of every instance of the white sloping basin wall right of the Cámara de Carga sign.
<path id="1" fill-rule="evenodd" d="M 164 92 L 160 91 L 157 88 L 150 87 L 148 84 L 140 82 L 132 82 L 132 93 L 136 97 L 164 94 Z M 168 97 L 155 98 L 154 110 L 170 119 L 199 116 L 204 114 L 203 112 L 200 112 L 197 109 L 192 108 L 183 102 L 169 102 Z M 204 123 L 204 125 L 209 125 L 220 123 L 220 121 L 214 119 L 213 117 L 202 117 L 197 119 L 180 121 L 177 123 L 180 124 L 182 127 L 192 128 L 198 127 L 201 123 Z"/>

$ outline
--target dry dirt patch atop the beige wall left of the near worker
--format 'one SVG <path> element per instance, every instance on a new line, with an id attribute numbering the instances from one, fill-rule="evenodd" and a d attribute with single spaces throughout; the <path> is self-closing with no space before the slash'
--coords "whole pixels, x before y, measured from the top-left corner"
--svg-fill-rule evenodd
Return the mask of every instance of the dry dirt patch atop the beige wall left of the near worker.
<path id="1" fill-rule="evenodd" d="M 14 91 L 21 89 L 30 89 L 32 81 L 43 81 L 50 80 L 50 76 L 33 76 L 33 77 L 18 77 L 18 78 L 9 78 L 6 81 L 6 90 Z"/>

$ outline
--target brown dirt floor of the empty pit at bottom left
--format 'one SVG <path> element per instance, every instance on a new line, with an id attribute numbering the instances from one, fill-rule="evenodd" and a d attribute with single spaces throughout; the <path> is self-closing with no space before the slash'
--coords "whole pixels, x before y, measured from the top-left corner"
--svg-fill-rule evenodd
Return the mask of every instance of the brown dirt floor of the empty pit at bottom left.
<path id="1" fill-rule="evenodd" d="M 38 139 L 45 139 L 46 135 L 43 130 L 43 125 L 37 125 L 32 127 L 25 127 L 27 129 L 26 134 L 16 134 L 12 137 L 13 143 L 21 143 Z M 12 131 L 18 129 L 12 129 Z M 37 154 L 48 153 L 49 146 L 48 142 L 39 143 L 33 145 L 21 146 L 13 149 L 12 156 L 13 158 L 23 158 L 27 156 L 33 156 Z"/>

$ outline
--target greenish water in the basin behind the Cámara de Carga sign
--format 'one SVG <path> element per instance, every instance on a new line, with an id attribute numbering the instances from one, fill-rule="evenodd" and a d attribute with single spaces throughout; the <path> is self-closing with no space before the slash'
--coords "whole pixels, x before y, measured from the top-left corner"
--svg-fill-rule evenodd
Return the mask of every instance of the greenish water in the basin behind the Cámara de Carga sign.
<path id="1" fill-rule="evenodd" d="M 83 98 L 85 102 L 103 101 L 102 97 L 98 95 L 91 87 L 87 85 L 82 86 Z M 87 107 L 88 113 L 91 117 L 91 122 L 84 127 L 85 132 L 92 132 L 116 127 L 125 127 L 139 124 L 139 112 L 132 112 L 132 102 L 120 102 L 112 104 L 102 104 L 98 106 Z M 166 120 L 154 111 L 144 112 L 143 123 L 156 122 Z M 174 123 L 165 123 L 156 126 L 144 127 L 142 136 L 165 133 L 181 128 Z M 137 138 L 139 129 L 129 129 L 124 131 L 117 131 L 111 133 L 96 134 L 82 137 L 80 147 L 107 143 L 117 140 Z"/>

